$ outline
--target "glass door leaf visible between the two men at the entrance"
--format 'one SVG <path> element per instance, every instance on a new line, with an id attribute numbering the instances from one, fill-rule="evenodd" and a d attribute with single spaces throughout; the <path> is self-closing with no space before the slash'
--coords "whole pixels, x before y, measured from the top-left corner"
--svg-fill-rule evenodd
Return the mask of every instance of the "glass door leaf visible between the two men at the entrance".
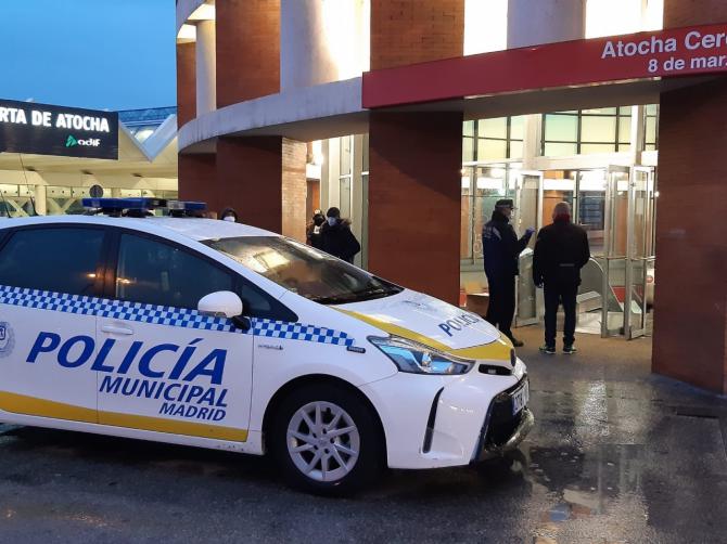
<path id="1" fill-rule="evenodd" d="M 525 234 L 528 228 L 543 226 L 543 173 L 520 171 L 515 177 L 515 216 L 513 226 L 518 236 Z M 520 275 L 516 284 L 515 326 L 532 325 L 539 320 L 538 308 L 540 292 L 533 283 L 533 236 L 528 247 L 520 255 Z"/>

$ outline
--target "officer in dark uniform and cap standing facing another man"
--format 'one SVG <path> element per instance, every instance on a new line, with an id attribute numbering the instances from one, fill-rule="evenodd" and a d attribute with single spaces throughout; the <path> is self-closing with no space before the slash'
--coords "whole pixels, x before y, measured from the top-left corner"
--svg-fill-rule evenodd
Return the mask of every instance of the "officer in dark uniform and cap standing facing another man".
<path id="1" fill-rule="evenodd" d="M 482 252 L 485 258 L 485 274 L 489 285 L 489 305 L 485 319 L 499 327 L 515 347 L 523 342 L 512 336 L 512 318 L 515 314 L 515 276 L 519 273 L 518 258 L 525 249 L 534 229 L 527 229 L 518 239 L 510 224 L 512 199 L 497 200 L 493 218 L 482 229 Z"/>

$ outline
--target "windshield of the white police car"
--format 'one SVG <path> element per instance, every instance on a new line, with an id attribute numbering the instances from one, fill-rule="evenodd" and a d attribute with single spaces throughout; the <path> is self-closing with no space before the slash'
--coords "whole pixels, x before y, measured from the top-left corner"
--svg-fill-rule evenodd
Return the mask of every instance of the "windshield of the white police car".
<path id="1" fill-rule="evenodd" d="M 241 236 L 202 243 L 278 285 L 322 305 L 360 302 L 403 290 L 353 264 L 284 237 Z"/>

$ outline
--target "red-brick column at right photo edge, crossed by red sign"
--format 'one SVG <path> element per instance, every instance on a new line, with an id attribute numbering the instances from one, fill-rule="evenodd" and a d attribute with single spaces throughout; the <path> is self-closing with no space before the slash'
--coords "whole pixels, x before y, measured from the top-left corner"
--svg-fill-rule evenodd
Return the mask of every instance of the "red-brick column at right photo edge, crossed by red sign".
<path id="1" fill-rule="evenodd" d="M 664 26 L 727 20 L 724 0 L 666 0 Z M 727 393 L 727 81 L 661 95 L 651 368 Z"/>

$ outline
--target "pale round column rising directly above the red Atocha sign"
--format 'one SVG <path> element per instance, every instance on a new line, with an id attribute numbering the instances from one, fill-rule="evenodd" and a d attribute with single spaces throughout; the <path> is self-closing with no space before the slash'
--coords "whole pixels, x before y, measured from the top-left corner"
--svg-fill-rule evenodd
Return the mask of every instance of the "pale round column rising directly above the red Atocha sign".
<path id="1" fill-rule="evenodd" d="M 508 49 L 577 40 L 585 35 L 586 0 L 508 1 Z"/>

